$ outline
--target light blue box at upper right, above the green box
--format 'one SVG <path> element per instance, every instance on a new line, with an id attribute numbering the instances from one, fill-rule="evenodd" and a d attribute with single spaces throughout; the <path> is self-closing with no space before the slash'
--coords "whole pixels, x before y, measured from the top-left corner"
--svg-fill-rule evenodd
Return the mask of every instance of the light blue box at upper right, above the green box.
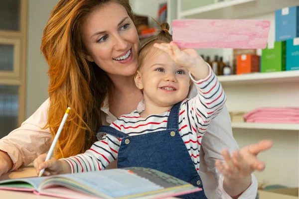
<path id="1" fill-rule="evenodd" d="M 299 37 L 299 6 L 275 10 L 275 41 Z"/>

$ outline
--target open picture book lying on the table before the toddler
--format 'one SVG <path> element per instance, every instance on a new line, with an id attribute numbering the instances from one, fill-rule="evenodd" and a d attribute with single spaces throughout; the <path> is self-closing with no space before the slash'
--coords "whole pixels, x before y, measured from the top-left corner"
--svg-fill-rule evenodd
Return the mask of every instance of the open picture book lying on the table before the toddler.
<path id="1" fill-rule="evenodd" d="M 4 180 L 0 189 L 66 199 L 162 199 L 201 191 L 165 173 L 140 167 Z"/>

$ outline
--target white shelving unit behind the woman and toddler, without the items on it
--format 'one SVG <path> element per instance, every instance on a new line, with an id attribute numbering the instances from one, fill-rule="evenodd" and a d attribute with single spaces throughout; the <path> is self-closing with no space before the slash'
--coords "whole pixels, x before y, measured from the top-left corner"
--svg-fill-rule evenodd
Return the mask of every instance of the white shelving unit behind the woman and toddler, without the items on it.
<path id="1" fill-rule="evenodd" d="M 269 41 L 275 39 L 275 10 L 299 5 L 299 0 L 230 0 L 182 11 L 183 2 L 177 0 L 177 19 L 270 20 Z M 230 50 L 199 49 L 198 52 L 210 57 L 222 54 L 224 61 L 228 61 L 227 57 L 232 58 Z M 299 107 L 299 71 L 219 76 L 218 79 L 227 95 L 229 111 L 246 112 L 259 107 Z M 264 172 L 255 172 L 259 182 L 299 186 L 299 124 L 232 122 L 232 127 L 240 147 L 262 139 L 274 141 L 271 150 L 258 156 L 267 165 Z M 288 164 L 288 169 L 284 163 Z"/>

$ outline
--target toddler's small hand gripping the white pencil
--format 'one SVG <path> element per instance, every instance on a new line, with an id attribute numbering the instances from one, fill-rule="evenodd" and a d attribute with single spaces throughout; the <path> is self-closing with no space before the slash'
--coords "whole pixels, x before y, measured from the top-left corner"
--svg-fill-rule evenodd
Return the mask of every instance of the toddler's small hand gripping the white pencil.
<path id="1" fill-rule="evenodd" d="M 39 175 L 40 170 L 45 169 L 43 176 L 52 176 L 57 174 L 71 173 L 70 165 L 64 160 L 57 160 L 51 157 L 50 160 L 45 162 L 47 154 L 38 156 L 33 165 L 36 170 L 36 174 Z"/>

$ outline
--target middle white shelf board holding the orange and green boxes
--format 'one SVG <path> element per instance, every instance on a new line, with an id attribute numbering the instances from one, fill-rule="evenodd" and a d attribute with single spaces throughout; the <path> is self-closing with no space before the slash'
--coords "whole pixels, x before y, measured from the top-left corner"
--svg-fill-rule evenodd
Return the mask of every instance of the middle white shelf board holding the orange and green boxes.
<path id="1" fill-rule="evenodd" d="M 299 83 L 299 70 L 272 73 L 250 73 L 242 75 L 218 76 L 223 86 L 261 83 Z"/>

